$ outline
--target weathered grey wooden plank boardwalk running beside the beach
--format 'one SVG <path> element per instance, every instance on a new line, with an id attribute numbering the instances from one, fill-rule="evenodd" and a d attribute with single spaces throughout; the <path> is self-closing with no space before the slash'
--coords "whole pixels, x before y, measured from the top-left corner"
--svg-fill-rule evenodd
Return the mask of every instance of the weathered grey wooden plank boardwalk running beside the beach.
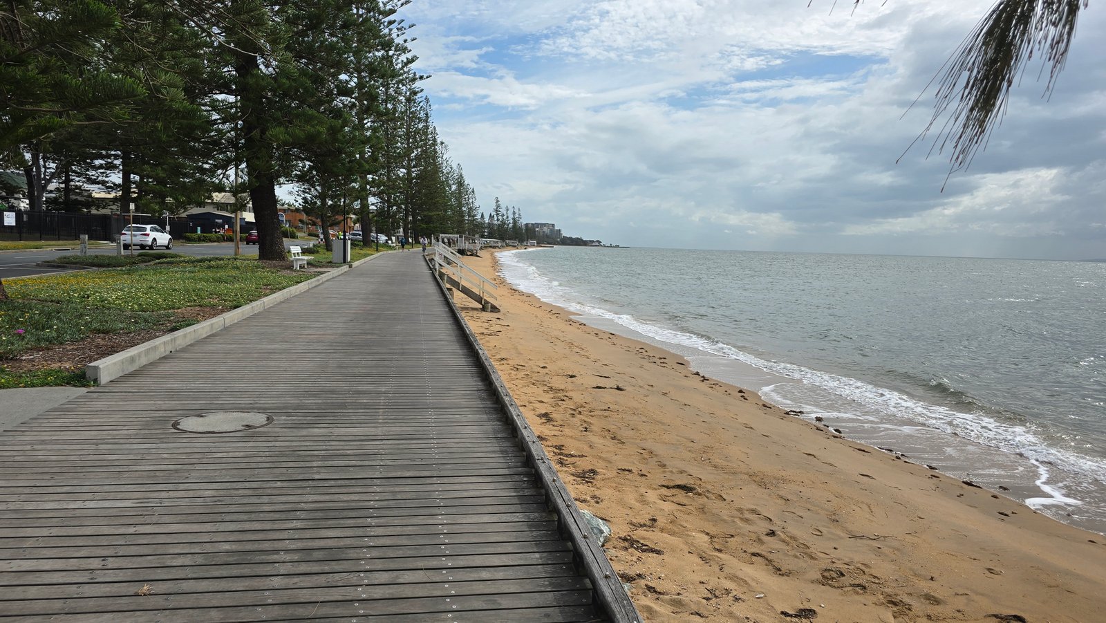
<path id="1" fill-rule="evenodd" d="M 0 433 L 0 619 L 638 620 L 482 356 L 394 252 Z"/>

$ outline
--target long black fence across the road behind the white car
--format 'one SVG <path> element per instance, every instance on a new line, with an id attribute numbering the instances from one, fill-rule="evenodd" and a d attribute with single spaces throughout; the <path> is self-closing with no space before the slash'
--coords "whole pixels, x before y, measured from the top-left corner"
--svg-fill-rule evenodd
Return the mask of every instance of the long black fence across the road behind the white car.
<path id="1" fill-rule="evenodd" d="M 155 217 L 147 215 L 81 215 L 72 212 L 12 210 L 3 212 L 0 221 L 0 240 L 77 240 L 87 236 L 88 240 L 113 242 L 123 228 L 135 225 L 160 225 L 168 227 L 174 238 L 180 239 L 186 231 L 199 227 L 207 232 L 211 226 L 207 221 L 191 221 L 187 217 Z"/>

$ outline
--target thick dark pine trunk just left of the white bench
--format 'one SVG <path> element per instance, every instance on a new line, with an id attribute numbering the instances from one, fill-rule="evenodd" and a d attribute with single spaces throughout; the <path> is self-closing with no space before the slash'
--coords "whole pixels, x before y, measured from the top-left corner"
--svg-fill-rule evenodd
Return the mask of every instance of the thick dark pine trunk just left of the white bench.
<path id="1" fill-rule="evenodd" d="M 242 152 L 246 159 L 247 187 L 258 228 L 258 259 L 286 260 L 284 238 L 278 218 L 276 180 L 273 172 L 273 147 L 269 144 L 265 120 L 264 86 L 254 54 L 238 52 L 239 115 L 242 120 Z"/>

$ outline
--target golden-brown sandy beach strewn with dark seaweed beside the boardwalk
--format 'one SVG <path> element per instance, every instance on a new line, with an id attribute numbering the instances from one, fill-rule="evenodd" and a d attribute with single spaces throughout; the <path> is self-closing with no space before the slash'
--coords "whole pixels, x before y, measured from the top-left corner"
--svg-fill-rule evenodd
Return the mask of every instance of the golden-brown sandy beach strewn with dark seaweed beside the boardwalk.
<path id="1" fill-rule="evenodd" d="M 473 331 L 646 621 L 1106 620 L 1106 538 L 508 287 Z"/>

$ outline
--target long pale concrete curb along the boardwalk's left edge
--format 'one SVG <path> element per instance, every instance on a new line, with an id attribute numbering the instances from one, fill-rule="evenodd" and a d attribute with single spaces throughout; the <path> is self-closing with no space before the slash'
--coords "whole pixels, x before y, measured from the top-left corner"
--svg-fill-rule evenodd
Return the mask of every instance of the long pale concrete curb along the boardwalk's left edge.
<path id="1" fill-rule="evenodd" d="M 123 352 L 94 361 L 84 366 L 84 375 L 101 385 L 105 385 L 128 372 L 138 370 L 148 363 L 164 357 L 177 349 L 187 346 L 188 344 L 191 344 L 202 338 L 207 338 L 208 335 L 221 329 L 226 329 L 240 320 L 249 318 L 267 308 L 271 308 L 281 301 L 288 300 L 302 292 L 306 292 L 320 283 L 325 283 L 340 274 L 344 274 L 352 270 L 353 267 L 367 262 L 368 260 L 377 258 L 382 253 L 376 253 L 357 260 L 352 264 L 342 266 L 327 272 L 326 274 L 320 274 L 319 277 L 309 279 L 303 283 L 296 283 L 291 288 L 285 288 L 280 292 L 269 294 L 264 299 L 258 299 L 252 303 L 230 310 L 229 312 L 217 315 L 212 319 L 205 320 L 204 322 L 199 322 L 191 326 L 186 326 L 178 331 L 174 331 L 168 335 L 161 335 L 160 338 L 150 340 L 149 342 L 138 344 L 137 346 L 133 346 Z"/>

